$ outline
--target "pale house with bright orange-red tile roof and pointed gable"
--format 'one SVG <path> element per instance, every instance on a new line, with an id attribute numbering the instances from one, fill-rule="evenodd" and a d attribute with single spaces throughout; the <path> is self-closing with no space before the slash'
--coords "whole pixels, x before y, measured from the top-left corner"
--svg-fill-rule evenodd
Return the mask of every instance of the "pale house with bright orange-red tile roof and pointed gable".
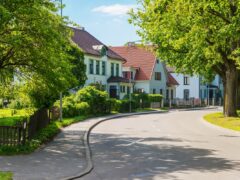
<path id="1" fill-rule="evenodd" d="M 110 49 L 126 60 L 123 64 L 123 77 L 134 82 L 134 91 L 160 93 L 171 99 L 176 97 L 178 82 L 150 47 L 129 43 L 127 46 Z"/>

